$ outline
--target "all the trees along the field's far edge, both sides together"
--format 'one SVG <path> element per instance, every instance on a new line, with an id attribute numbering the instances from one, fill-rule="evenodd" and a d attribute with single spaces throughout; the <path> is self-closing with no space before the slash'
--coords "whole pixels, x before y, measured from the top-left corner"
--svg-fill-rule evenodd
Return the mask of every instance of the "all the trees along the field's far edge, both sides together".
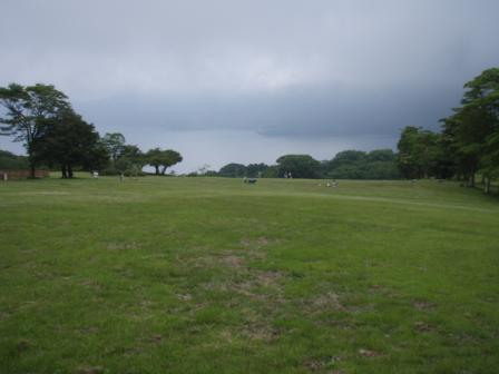
<path id="1" fill-rule="evenodd" d="M 172 149 L 143 152 L 137 146 L 127 145 L 119 132 L 100 137 L 53 86 L 11 83 L 0 88 L 0 104 L 6 108 L 0 117 L 0 135 L 23 142 L 32 175 L 39 165 L 59 167 L 67 178 L 72 177 L 75 168 L 137 175 L 146 165 L 154 167 L 156 175 L 164 175 L 168 167 L 182 161 L 182 155 Z M 499 176 L 499 68 L 485 70 L 468 81 L 460 105 L 440 122 L 440 131 L 405 127 L 397 154 L 391 149 L 344 150 L 322 161 L 310 155 L 284 155 L 275 165 L 231 163 L 218 171 L 200 174 L 252 178 L 433 177 L 461 179 L 469 187 L 474 187 L 477 176 L 481 176 L 489 193 L 491 181 Z M 2 156 L 6 159 L 0 154 L 0 160 Z M 8 163 L 19 165 L 19 159 Z"/>

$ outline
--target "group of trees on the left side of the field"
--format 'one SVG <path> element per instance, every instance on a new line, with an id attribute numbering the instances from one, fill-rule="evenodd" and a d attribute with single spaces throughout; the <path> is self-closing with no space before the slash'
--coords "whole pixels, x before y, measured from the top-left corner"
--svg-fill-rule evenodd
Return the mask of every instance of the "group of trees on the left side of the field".
<path id="1" fill-rule="evenodd" d="M 0 135 L 21 141 L 28 154 L 25 164 L 0 154 L 3 164 L 9 168 L 28 164 L 31 177 L 40 166 L 60 168 L 62 178 L 72 178 L 74 170 L 138 175 L 146 165 L 164 175 L 182 161 L 182 155 L 172 149 L 143 152 L 126 144 L 119 132 L 100 137 L 95 126 L 75 111 L 68 97 L 50 85 L 0 87 L 0 105 L 4 108 Z"/>

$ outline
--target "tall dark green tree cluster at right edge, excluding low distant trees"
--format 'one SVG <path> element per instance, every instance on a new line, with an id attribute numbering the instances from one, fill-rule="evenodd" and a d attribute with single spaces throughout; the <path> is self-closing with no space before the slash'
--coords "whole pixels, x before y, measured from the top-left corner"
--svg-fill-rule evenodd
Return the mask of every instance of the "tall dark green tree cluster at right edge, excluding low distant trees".
<path id="1" fill-rule="evenodd" d="M 398 144 L 405 178 L 456 178 L 468 187 L 481 176 L 485 191 L 499 176 L 499 68 L 464 85 L 460 106 L 440 120 L 441 130 L 408 126 Z"/>

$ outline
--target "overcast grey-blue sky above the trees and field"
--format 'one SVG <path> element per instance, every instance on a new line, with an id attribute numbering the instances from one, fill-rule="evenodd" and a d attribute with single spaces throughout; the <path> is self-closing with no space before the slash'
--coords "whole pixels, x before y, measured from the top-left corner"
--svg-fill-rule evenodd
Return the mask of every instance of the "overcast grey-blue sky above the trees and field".
<path id="1" fill-rule="evenodd" d="M 101 135 L 180 151 L 178 173 L 331 159 L 437 130 L 499 66 L 497 14 L 497 0 L 1 0 L 0 87 L 55 85 Z"/>

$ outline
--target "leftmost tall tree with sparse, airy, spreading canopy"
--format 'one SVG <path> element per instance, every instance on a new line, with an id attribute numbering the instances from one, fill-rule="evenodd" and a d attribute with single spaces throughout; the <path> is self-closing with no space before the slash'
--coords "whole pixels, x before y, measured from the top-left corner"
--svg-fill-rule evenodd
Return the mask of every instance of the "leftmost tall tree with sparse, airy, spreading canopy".
<path id="1" fill-rule="evenodd" d="M 35 85 L 23 87 L 11 83 L 0 87 L 0 104 L 6 108 L 0 118 L 0 135 L 14 136 L 14 141 L 22 141 L 28 152 L 30 177 L 35 178 L 37 158 L 36 142 L 43 137 L 48 120 L 60 111 L 70 109 L 65 94 L 53 86 Z"/>

